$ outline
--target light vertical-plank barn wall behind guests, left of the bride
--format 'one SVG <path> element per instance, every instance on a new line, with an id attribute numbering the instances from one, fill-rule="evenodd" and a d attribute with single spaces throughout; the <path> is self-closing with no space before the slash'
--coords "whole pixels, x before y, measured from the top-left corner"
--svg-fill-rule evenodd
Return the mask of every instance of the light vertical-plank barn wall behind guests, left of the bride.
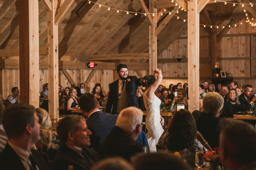
<path id="1" fill-rule="evenodd" d="M 76 85 L 79 86 L 80 83 L 84 83 L 91 73 L 90 69 L 67 69 L 67 72 L 75 81 Z M 146 70 L 140 70 L 142 75 L 146 75 Z M 2 83 L 0 88 L 0 93 L 2 92 L 3 98 L 7 99 L 7 96 L 12 94 L 12 88 L 18 87 L 20 88 L 20 70 L 19 69 L 2 69 L 0 71 L 2 76 Z M 92 80 L 89 83 L 90 92 L 96 83 L 100 83 L 102 90 L 108 92 L 108 84 L 117 80 L 116 70 L 97 70 L 97 72 L 92 77 Z M 129 75 L 135 75 L 139 77 L 135 70 L 129 70 Z M 115 79 L 114 79 L 115 78 Z M 48 83 L 48 70 L 47 69 L 39 69 L 39 91 L 42 93 L 44 91 L 44 85 Z M 62 74 L 59 70 L 59 84 L 65 87 L 71 87 L 67 78 Z M 49 87 L 50 88 L 50 87 Z"/>

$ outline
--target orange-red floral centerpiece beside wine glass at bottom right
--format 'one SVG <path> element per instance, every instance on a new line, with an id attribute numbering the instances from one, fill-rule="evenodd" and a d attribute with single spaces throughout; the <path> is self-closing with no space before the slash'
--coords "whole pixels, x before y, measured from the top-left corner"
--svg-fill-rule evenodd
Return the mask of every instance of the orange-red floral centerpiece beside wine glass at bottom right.
<path id="1" fill-rule="evenodd" d="M 213 148 L 213 151 L 209 151 L 203 156 L 205 162 L 209 162 L 209 170 L 224 170 L 224 167 L 221 166 L 219 148 Z"/>

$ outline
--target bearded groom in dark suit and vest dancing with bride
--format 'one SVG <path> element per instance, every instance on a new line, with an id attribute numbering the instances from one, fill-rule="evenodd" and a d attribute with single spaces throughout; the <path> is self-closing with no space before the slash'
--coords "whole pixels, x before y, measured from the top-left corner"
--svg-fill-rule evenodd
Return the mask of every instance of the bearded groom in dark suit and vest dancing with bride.
<path id="1" fill-rule="evenodd" d="M 112 115 L 119 114 L 121 110 L 130 106 L 139 108 L 136 92 L 140 85 L 140 78 L 129 76 L 128 68 L 125 64 L 117 66 L 117 74 L 119 79 L 109 85 L 109 95 L 105 109 L 106 113 L 111 113 Z M 153 75 L 156 75 L 155 71 Z"/>

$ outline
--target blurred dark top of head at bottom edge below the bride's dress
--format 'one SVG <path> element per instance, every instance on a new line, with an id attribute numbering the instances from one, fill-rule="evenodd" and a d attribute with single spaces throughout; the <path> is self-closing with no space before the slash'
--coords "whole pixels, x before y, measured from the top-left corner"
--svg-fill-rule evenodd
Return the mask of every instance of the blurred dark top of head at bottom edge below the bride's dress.
<path id="1" fill-rule="evenodd" d="M 169 152 L 138 154 L 132 159 L 135 170 L 191 170 L 178 156 Z"/>

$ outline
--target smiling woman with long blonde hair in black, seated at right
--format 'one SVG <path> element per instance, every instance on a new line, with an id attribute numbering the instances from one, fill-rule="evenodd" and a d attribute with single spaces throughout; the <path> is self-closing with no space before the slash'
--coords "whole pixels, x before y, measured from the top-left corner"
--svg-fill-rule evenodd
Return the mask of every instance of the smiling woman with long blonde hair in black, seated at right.
<path id="1" fill-rule="evenodd" d="M 234 118 L 236 111 L 243 111 L 242 105 L 239 102 L 238 93 L 235 89 L 230 89 L 227 96 L 228 98 L 224 101 L 220 117 Z"/>

